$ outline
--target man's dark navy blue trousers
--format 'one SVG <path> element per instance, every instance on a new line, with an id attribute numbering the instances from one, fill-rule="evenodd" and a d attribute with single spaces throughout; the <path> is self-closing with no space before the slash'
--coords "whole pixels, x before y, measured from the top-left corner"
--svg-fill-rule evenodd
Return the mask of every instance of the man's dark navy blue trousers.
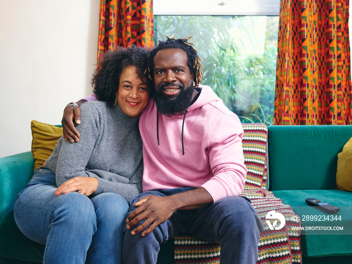
<path id="1" fill-rule="evenodd" d="M 194 188 L 147 191 L 131 201 L 128 214 L 139 199 L 148 195 L 169 196 Z M 140 222 L 140 224 L 143 221 Z M 190 234 L 203 240 L 220 243 L 220 263 L 257 262 L 258 242 L 264 225 L 249 199 L 241 196 L 223 198 L 214 204 L 195 210 L 179 210 L 150 234 L 132 235 L 134 228 L 124 227 L 122 250 L 124 264 L 156 263 L 160 244 L 179 234 Z"/>

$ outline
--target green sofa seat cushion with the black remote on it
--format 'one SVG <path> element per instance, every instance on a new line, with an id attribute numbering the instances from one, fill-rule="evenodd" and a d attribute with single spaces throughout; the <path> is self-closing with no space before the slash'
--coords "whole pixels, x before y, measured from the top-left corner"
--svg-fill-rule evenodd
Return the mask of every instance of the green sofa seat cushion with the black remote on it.
<path id="1" fill-rule="evenodd" d="M 352 254 L 352 193 L 339 190 L 286 190 L 273 193 L 284 204 L 291 205 L 301 218 L 301 246 L 305 256 Z M 340 211 L 326 214 L 307 205 L 307 198 L 319 199 L 340 208 Z M 340 227 L 343 230 L 327 230 Z"/>

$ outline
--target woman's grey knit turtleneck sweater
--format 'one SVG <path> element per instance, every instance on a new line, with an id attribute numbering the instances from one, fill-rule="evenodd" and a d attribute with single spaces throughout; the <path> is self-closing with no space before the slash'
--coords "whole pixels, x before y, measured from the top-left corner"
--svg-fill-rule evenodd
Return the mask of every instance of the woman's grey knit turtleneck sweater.
<path id="1" fill-rule="evenodd" d="M 92 195 L 117 193 L 128 202 L 142 191 L 142 139 L 139 117 L 125 115 L 120 107 L 105 102 L 86 102 L 80 107 L 78 143 L 61 137 L 46 166 L 56 174 L 60 186 L 74 177 L 95 177 Z"/>

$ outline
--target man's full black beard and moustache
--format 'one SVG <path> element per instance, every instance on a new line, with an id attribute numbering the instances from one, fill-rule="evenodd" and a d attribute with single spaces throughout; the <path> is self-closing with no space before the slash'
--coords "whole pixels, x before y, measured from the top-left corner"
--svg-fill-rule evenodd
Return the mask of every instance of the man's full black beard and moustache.
<path id="1" fill-rule="evenodd" d="M 164 87 L 168 85 L 162 85 L 159 91 L 162 91 Z M 173 85 L 176 86 L 176 85 Z M 177 114 L 185 113 L 187 108 L 191 105 L 191 100 L 193 96 L 193 85 L 185 90 L 185 86 L 180 84 L 181 91 L 175 99 L 168 99 L 162 92 L 155 91 L 154 99 L 157 110 L 166 116 L 173 116 Z"/>

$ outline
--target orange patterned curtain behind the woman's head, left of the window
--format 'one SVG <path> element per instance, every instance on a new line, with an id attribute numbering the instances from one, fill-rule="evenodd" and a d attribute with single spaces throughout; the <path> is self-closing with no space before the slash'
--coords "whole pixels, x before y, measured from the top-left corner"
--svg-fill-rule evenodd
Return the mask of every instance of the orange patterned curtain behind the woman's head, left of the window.
<path id="1" fill-rule="evenodd" d="M 98 61 L 107 50 L 154 47 L 153 0 L 101 0 Z"/>

